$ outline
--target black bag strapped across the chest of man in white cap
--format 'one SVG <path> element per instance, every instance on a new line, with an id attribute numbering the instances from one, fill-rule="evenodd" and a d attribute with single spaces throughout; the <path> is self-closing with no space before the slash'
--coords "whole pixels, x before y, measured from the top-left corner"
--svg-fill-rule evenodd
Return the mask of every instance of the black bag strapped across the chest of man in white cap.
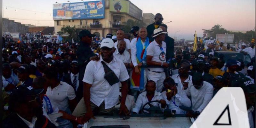
<path id="1" fill-rule="evenodd" d="M 108 81 L 108 84 L 110 84 L 111 86 L 118 83 L 119 79 L 116 76 L 115 72 L 112 71 L 105 62 L 101 61 L 104 71 L 105 71 L 105 75 L 104 78 Z"/>

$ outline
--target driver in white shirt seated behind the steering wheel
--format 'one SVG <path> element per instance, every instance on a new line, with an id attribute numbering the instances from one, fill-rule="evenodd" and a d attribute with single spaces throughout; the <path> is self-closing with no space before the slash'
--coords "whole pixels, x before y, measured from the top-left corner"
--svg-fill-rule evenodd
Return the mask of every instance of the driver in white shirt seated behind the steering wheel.
<path id="1" fill-rule="evenodd" d="M 140 93 L 135 107 L 132 109 L 133 113 L 139 113 L 139 111 L 142 109 L 142 107 L 148 103 L 149 101 L 158 100 L 159 102 L 153 102 L 151 103 L 153 106 L 160 108 L 160 110 L 163 110 L 166 108 L 166 102 L 164 100 L 163 95 L 160 92 L 156 92 L 156 83 L 152 80 L 149 80 L 146 84 L 146 91 Z M 145 108 L 150 108 L 149 105 L 146 105 Z M 144 110 L 144 112 L 149 113 L 148 111 Z"/>

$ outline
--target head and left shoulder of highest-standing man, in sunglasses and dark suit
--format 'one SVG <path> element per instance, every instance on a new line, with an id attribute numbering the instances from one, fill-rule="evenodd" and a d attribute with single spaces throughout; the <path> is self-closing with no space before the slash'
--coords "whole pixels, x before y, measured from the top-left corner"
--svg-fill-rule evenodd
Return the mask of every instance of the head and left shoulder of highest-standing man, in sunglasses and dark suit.
<path id="1" fill-rule="evenodd" d="M 152 38 L 152 35 L 154 34 L 154 30 L 156 28 L 159 28 L 159 26 L 162 24 L 162 21 L 164 20 L 162 14 L 157 13 L 155 16 L 155 22 L 153 24 L 148 25 L 147 31 L 148 31 L 148 38 L 149 41 L 152 42 L 154 39 Z"/>

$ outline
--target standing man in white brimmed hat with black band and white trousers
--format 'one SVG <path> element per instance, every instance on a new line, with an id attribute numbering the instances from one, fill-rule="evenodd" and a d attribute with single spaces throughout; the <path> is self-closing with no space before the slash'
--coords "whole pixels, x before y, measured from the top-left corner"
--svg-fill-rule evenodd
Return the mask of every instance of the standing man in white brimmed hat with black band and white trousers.
<path id="1" fill-rule="evenodd" d="M 155 40 L 148 45 L 147 48 L 147 65 L 169 67 L 166 63 L 166 43 L 164 42 L 165 34 L 162 28 L 154 30 L 153 38 Z M 162 92 L 165 73 L 163 68 L 148 68 L 148 80 L 156 82 L 156 91 Z"/>

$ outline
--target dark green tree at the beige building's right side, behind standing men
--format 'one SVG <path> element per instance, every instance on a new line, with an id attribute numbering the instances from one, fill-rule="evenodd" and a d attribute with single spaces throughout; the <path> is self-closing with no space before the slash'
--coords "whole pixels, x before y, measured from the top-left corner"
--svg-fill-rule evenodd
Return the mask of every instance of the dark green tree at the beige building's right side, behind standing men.
<path id="1" fill-rule="evenodd" d="M 122 28 L 124 29 L 125 33 L 129 33 L 133 26 L 138 26 L 139 28 L 146 26 L 146 24 L 143 23 L 142 21 L 139 21 L 139 20 L 134 21 L 131 19 L 127 20 L 127 22 L 124 22 L 123 24 L 124 26 Z"/>

